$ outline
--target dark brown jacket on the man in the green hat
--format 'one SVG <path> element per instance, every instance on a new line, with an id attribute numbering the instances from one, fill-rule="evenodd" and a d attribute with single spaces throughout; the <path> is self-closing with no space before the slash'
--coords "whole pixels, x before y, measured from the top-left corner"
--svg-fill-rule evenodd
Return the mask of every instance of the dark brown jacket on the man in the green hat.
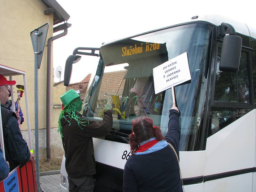
<path id="1" fill-rule="evenodd" d="M 88 121 L 84 117 L 81 118 L 84 119 L 82 121 Z M 112 112 L 106 110 L 102 122 L 89 120 L 89 124 L 80 125 L 82 129 L 74 119 L 70 121 L 70 125 L 65 118 L 60 121 L 68 175 L 75 178 L 94 175 L 96 170 L 92 137 L 102 137 L 110 132 L 113 126 Z"/>

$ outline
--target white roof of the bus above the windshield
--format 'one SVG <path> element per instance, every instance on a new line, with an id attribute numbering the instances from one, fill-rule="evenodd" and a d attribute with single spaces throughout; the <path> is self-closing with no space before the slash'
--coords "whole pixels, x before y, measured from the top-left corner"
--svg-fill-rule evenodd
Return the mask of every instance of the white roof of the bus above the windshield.
<path id="1" fill-rule="evenodd" d="M 197 16 L 197 18 L 192 19 L 192 17 L 195 17 L 195 16 Z M 221 25 L 221 23 L 224 22 L 224 23 L 228 23 L 228 24 L 232 25 L 235 28 L 237 33 L 243 34 L 245 36 L 251 36 L 256 39 L 256 29 L 255 28 L 253 28 L 252 26 L 246 25 L 246 23 L 236 21 L 232 18 L 228 18 L 226 16 L 216 15 L 216 14 L 209 14 L 209 15 L 196 14 L 196 15 L 193 15 L 192 17 L 185 19 L 185 20 L 183 19 L 183 20 L 179 20 L 179 21 L 177 21 L 177 20 L 171 21 L 171 23 L 168 23 L 169 26 L 166 26 L 164 28 L 168 28 L 173 25 L 178 25 L 178 24 L 182 24 L 182 23 L 194 22 L 194 21 L 206 21 L 206 22 L 212 23 L 213 25 L 216 25 L 216 26 L 219 26 L 219 25 Z M 155 29 L 155 30 L 158 30 L 158 29 Z M 147 32 L 145 32 L 145 33 L 147 33 Z M 121 39 L 124 39 L 124 38 L 121 38 Z M 107 45 L 109 43 L 113 43 L 118 40 L 120 40 L 120 39 L 115 39 L 113 41 L 106 42 L 102 46 Z"/>

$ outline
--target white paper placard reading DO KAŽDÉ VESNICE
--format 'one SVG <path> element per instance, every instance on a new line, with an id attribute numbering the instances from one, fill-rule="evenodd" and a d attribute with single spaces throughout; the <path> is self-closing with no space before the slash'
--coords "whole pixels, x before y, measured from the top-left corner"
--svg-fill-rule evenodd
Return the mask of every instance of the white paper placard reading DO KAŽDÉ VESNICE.
<path id="1" fill-rule="evenodd" d="M 153 68 L 155 94 L 191 79 L 187 52 Z"/>

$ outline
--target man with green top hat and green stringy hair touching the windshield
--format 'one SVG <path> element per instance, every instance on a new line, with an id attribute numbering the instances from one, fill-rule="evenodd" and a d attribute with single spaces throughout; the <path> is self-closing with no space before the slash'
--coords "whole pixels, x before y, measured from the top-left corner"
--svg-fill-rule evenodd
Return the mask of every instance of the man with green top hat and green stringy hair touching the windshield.
<path id="1" fill-rule="evenodd" d="M 96 170 L 92 137 L 106 136 L 113 126 L 113 100 L 108 101 L 102 122 L 96 122 L 79 113 L 80 97 L 74 89 L 60 96 L 64 108 L 60 112 L 58 132 L 66 155 L 69 192 L 93 191 Z"/>

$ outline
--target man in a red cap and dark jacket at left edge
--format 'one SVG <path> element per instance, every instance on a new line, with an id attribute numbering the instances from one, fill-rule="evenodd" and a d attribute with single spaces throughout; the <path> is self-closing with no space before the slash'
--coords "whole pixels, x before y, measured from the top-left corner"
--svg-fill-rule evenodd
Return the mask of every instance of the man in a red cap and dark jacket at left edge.
<path id="1" fill-rule="evenodd" d="M 5 104 L 9 97 L 8 85 L 15 84 L 16 81 L 8 81 L 4 76 L 0 75 L 0 102 L 4 133 L 4 151 L 5 159 L 10 164 L 10 171 L 19 164 L 26 164 L 28 161 L 33 161 L 34 159 L 34 155 L 29 152 L 27 142 L 22 138 L 16 114 L 2 105 Z"/>

